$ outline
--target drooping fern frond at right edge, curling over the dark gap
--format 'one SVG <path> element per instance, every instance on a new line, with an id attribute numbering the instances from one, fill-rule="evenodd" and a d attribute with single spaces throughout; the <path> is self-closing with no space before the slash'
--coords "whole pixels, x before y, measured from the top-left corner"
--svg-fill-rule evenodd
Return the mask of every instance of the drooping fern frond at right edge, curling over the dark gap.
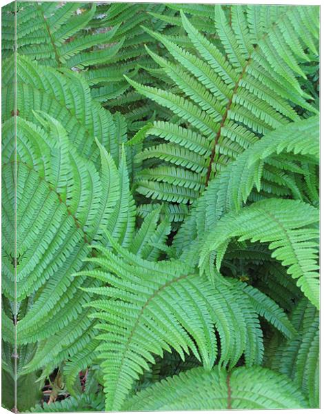
<path id="1" fill-rule="evenodd" d="M 318 307 L 317 228 L 318 211 L 301 201 L 265 199 L 245 207 L 241 213 L 227 213 L 205 240 L 201 250 L 201 271 L 216 255 L 219 270 L 232 237 L 240 241 L 268 242 L 272 257 L 298 278 L 297 286 Z M 266 230 L 265 230 L 266 228 Z"/>

